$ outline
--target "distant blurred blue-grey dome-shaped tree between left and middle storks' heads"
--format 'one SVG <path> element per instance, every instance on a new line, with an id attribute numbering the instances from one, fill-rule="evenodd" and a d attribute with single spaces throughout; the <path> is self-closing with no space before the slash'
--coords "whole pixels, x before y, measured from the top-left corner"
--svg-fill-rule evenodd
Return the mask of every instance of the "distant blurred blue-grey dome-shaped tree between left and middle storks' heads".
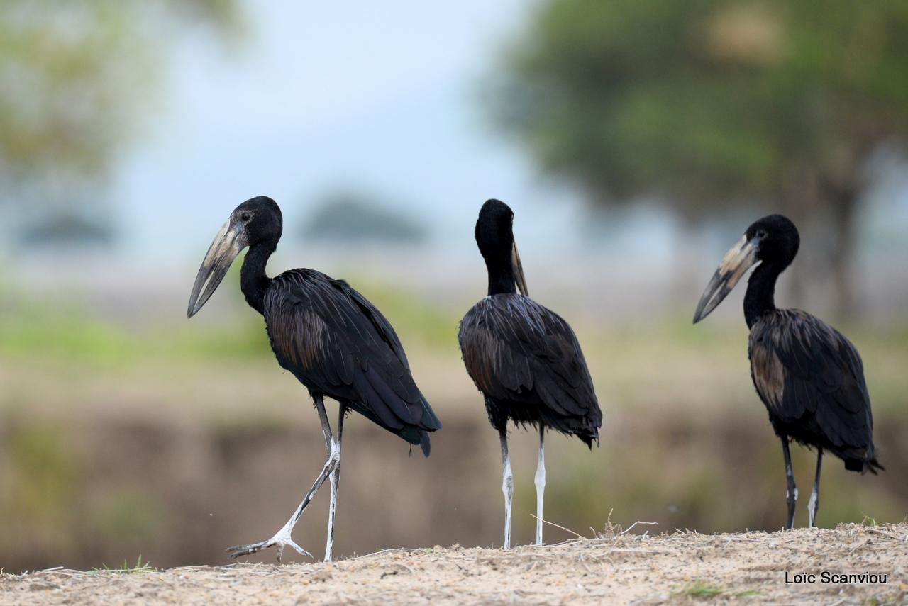
<path id="1" fill-rule="evenodd" d="M 426 230 L 374 197 L 338 191 L 329 195 L 305 221 L 301 235 L 321 241 L 412 244 L 425 239 Z"/>

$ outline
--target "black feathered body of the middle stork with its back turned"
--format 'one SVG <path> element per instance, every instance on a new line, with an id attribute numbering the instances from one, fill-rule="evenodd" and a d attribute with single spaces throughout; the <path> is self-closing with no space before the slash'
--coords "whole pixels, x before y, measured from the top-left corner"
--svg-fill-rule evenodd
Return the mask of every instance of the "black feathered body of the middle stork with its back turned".
<path id="1" fill-rule="evenodd" d="M 597 439 L 602 412 L 593 381 L 558 314 L 522 295 L 493 295 L 467 312 L 458 340 L 492 425 L 541 422 L 587 444 Z"/>

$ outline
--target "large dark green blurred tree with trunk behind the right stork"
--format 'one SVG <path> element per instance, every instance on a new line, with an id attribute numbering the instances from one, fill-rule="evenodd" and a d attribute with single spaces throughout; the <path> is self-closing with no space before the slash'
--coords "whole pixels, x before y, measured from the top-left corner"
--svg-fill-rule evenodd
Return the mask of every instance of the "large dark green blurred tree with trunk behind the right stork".
<path id="1" fill-rule="evenodd" d="M 770 201 L 834 226 L 839 311 L 865 170 L 908 138 L 903 0 L 548 0 L 493 110 L 597 204 Z"/>

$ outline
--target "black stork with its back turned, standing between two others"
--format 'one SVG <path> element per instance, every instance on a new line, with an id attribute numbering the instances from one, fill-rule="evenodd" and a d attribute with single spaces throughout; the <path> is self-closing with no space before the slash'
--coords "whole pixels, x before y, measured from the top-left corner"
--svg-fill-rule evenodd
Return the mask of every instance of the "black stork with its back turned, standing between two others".
<path id="1" fill-rule="evenodd" d="M 602 426 L 593 381 L 574 331 L 558 314 L 528 296 L 513 224 L 514 213 L 502 201 L 488 200 L 479 210 L 475 235 L 489 270 L 489 296 L 470 308 L 458 334 L 463 363 L 485 397 L 489 423 L 501 440 L 505 549 L 510 548 L 514 494 L 508 421 L 534 425 L 539 432 L 537 544 L 542 543 L 546 429 L 576 435 L 592 448 Z"/>

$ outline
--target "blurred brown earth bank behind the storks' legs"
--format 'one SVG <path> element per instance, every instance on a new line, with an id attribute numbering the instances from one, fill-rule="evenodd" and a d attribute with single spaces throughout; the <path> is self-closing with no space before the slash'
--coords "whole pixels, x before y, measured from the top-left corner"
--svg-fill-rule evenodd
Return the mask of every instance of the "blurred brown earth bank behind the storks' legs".
<path id="1" fill-rule="evenodd" d="M 451 407 L 453 408 L 453 407 Z M 471 410 L 465 403 L 463 410 Z M 602 446 L 547 439 L 546 518 L 591 536 L 611 519 L 656 522 L 651 533 L 774 531 L 785 518 L 781 448 L 765 415 L 670 411 L 614 413 Z M 0 427 L 0 569 L 63 565 L 93 569 L 123 561 L 171 568 L 227 564 L 225 548 L 270 537 L 318 474 L 324 443 L 311 410 L 287 417 L 174 424 L 115 415 Z M 905 517 L 905 425 L 881 417 L 887 471 L 853 474 L 824 464 L 818 524 L 898 523 Z M 514 541 L 534 536 L 537 442 L 515 431 Z M 500 545 L 503 523 L 498 438 L 479 415 L 446 416 L 432 455 L 358 417 L 345 429 L 335 555 L 394 547 Z M 814 454 L 793 448 L 801 488 L 795 526 L 806 524 Z M 328 488 L 303 514 L 294 538 L 321 555 Z M 642 532 L 640 527 L 634 533 Z M 548 527 L 547 542 L 571 534 Z M 249 562 L 272 562 L 257 553 Z M 294 554 L 288 560 L 308 562 Z"/>

